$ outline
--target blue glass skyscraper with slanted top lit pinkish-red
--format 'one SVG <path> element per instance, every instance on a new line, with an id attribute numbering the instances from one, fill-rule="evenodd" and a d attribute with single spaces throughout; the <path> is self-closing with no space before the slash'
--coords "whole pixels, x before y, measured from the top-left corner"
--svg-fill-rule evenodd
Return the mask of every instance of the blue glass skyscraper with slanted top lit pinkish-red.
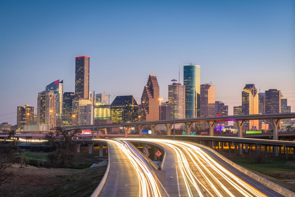
<path id="1" fill-rule="evenodd" d="M 56 118 L 62 118 L 63 114 L 63 80 L 56 80 L 47 85 L 45 90 L 52 91 L 56 96 Z"/>

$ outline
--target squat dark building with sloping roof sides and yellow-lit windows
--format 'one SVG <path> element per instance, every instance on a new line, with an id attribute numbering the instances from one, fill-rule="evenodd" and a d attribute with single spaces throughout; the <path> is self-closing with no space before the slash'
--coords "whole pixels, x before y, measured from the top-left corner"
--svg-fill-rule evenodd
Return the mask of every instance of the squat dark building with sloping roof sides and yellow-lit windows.
<path id="1" fill-rule="evenodd" d="M 111 120 L 113 123 L 137 122 L 138 105 L 132 95 L 117 96 L 114 99 L 111 104 Z"/>

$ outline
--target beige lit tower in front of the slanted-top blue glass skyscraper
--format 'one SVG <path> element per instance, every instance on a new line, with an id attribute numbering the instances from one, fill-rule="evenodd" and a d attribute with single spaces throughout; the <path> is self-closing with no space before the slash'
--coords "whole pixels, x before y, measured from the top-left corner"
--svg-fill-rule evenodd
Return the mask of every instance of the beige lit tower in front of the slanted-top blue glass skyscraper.
<path id="1" fill-rule="evenodd" d="M 48 125 L 48 128 L 56 126 L 56 96 L 52 91 L 38 93 L 37 103 L 38 125 Z"/>

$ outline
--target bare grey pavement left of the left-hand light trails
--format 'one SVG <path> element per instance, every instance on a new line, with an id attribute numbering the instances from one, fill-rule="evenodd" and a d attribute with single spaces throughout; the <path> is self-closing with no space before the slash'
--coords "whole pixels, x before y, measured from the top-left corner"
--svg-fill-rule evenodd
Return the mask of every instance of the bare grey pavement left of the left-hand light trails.
<path id="1" fill-rule="evenodd" d="M 99 196 L 137 196 L 139 182 L 131 161 L 114 142 L 108 141 L 108 146 L 110 169 Z"/>

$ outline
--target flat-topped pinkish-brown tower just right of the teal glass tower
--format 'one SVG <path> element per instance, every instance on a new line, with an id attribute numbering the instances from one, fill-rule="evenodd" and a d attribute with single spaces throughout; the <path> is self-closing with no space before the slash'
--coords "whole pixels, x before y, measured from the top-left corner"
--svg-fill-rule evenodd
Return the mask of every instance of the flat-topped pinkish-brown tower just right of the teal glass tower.
<path id="1" fill-rule="evenodd" d="M 210 84 L 200 85 L 200 116 L 215 116 L 215 86 Z M 201 128 L 207 128 L 207 123 L 201 123 Z"/>

